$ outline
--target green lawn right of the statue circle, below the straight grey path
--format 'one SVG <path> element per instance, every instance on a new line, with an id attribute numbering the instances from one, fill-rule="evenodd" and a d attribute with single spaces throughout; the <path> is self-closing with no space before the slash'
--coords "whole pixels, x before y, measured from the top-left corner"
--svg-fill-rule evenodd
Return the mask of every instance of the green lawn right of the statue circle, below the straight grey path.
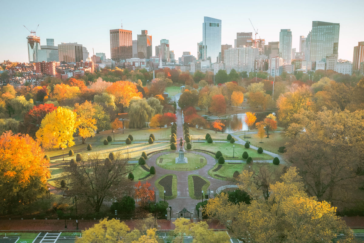
<path id="1" fill-rule="evenodd" d="M 280 172 L 283 170 L 283 167 L 284 165 L 273 165 L 272 163 L 254 163 L 253 162 L 253 165 L 250 165 L 251 168 L 250 169 L 253 169 L 254 171 L 257 171 L 259 169 L 259 167 L 261 165 L 266 165 L 268 166 L 268 169 L 270 171 L 276 171 L 278 170 L 278 174 L 280 175 Z M 213 176 L 214 178 L 216 179 L 220 179 L 220 180 L 233 180 L 233 174 L 235 171 L 238 171 L 239 173 L 241 173 L 241 171 L 244 171 L 244 170 L 248 170 L 249 169 L 249 165 L 246 164 L 245 162 L 243 162 L 242 164 L 223 164 L 221 169 L 219 169 L 218 171 L 213 171 L 214 169 L 216 169 L 217 167 L 219 166 L 219 164 L 216 164 L 212 169 L 209 170 L 209 175 L 210 176 Z M 221 177 L 225 177 L 225 178 L 221 178 L 221 177 L 218 177 L 218 176 L 215 176 L 215 175 L 219 175 Z M 278 179 L 278 178 L 277 178 Z"/>

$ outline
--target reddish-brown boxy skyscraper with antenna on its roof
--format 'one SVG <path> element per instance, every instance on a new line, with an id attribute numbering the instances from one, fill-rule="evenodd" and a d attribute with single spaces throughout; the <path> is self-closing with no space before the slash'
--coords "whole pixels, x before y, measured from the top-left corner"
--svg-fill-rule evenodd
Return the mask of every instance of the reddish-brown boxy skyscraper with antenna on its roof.
<path id="1" fill-rule="evenodd" d="M 115 62 L 132 58 L 132 33 L 131 30 L 110 30 L 111 59 Z"/>

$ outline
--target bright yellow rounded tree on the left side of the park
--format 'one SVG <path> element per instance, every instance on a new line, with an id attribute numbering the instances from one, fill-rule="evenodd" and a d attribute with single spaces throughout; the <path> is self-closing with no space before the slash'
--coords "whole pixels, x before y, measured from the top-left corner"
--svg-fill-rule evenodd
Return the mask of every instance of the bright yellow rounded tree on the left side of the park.
<path id="1" fill-rule="evenodd" d="M 75 145 L 77 125 L 77 114 L 59 106 L 44 117 L 35 135 L 43 148 L 67 148 Z"/>

